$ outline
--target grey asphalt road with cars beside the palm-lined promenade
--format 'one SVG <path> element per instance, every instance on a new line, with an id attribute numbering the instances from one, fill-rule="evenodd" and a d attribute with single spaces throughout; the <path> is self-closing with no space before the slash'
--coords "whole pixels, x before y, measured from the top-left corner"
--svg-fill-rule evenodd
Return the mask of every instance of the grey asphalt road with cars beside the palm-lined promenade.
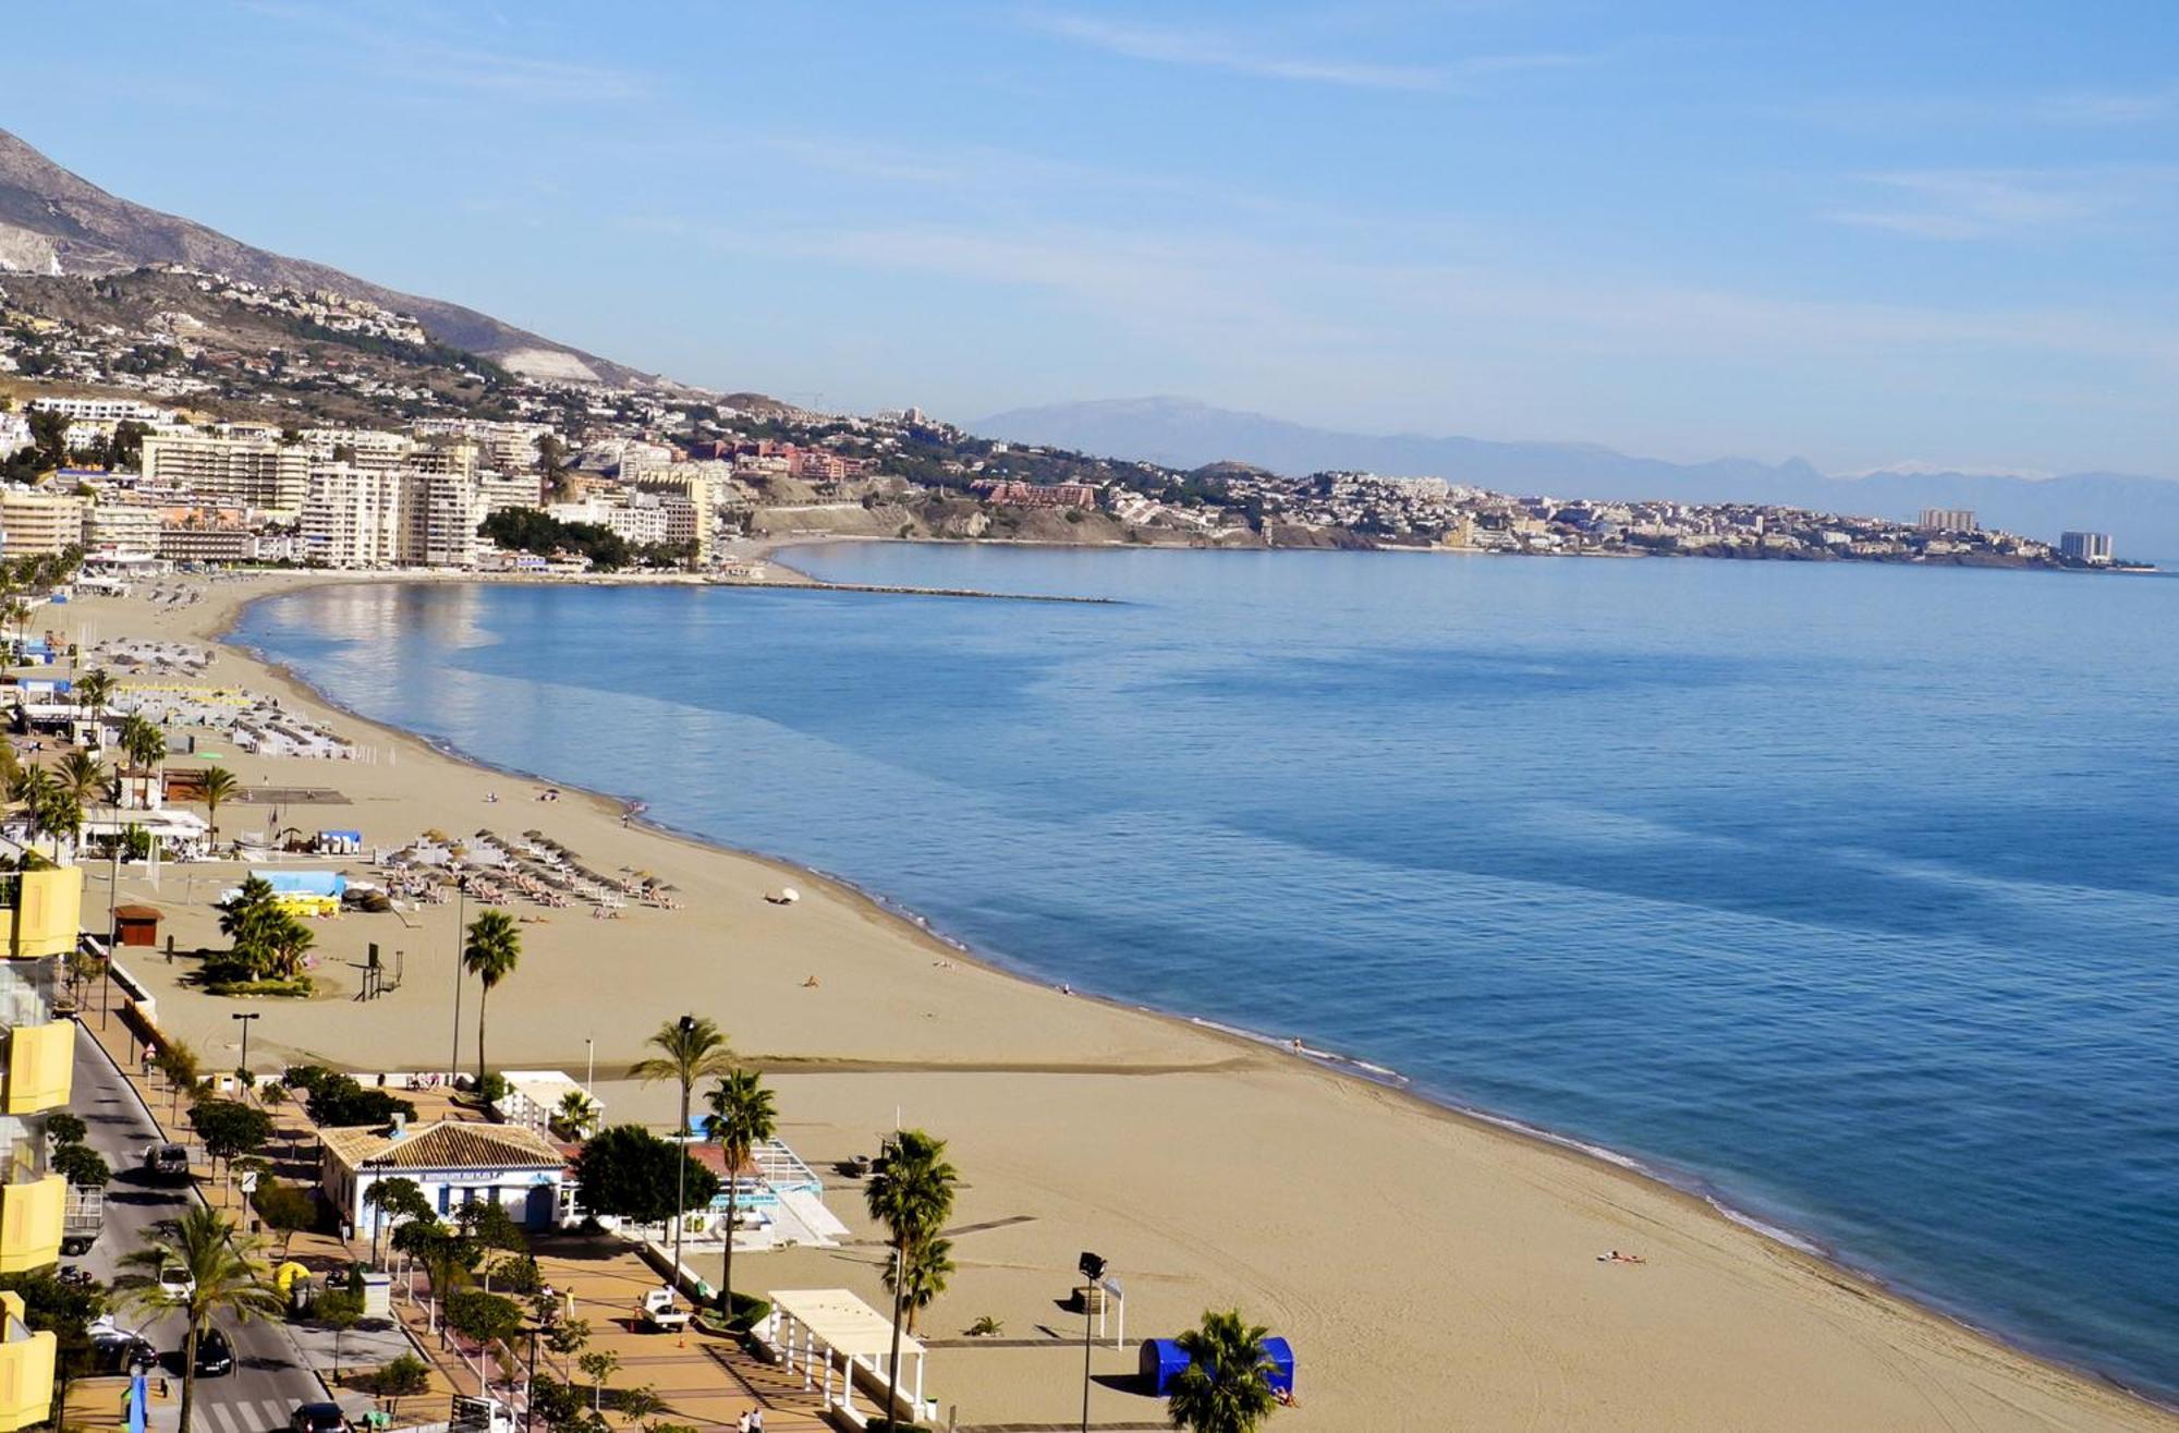
<path id="1" fill-rule="evenodd" d="M 105 1230 L 92 1252 L 76 1263 L 83 1263 L 100 1283 L 111 1283 L 122 1257 L 142 1248 L 155 1224 L 179 1217 L 196 1196 L 183 1185 L 155 1185 L 137 1169 L 144 1146 L 159 1139 L 159 1130 L 87 1030 L 76 1032 L 76 1098 L 70 1109 L 89 1126 L 92 1148 L 113 1165 L 113 1183 L 107 1185 Z M 181 1374 L 179 1318 L 146 1322 L 120 1315 L 120 1322 L 135 1326 L 166 1352 L 170 1376 Z M 192 1433 L 285 1429 L 294 1405 L 325 1398 L 325 1387 L 303 1365 L 283 1324 L 235 1326 L 233 1320 L 224 1320 L 220 1326 L 235 1344 L 235 1372 L 196 1381 Z M 157 1411 L 153 1422 L 157 1426 Z"/>

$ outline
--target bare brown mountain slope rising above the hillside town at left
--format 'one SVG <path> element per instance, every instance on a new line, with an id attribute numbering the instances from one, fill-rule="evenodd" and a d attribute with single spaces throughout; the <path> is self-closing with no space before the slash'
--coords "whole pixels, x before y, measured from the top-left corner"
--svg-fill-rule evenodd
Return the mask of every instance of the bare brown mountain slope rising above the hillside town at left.
<path id="1" fill-rule="evenodd" d="M 187 264 L 272 287 L 368 298 L 416 316 L 442 344 L 482 353 L 501 368 L 536 379 L 662 383 L 595 353 L 503 324 L 490 314 L 401 294 L 325 264 L 253 248 L 194 220 L 131 205 L 0 128 L 0 272 L 111 274 L 144 264 Z"/>

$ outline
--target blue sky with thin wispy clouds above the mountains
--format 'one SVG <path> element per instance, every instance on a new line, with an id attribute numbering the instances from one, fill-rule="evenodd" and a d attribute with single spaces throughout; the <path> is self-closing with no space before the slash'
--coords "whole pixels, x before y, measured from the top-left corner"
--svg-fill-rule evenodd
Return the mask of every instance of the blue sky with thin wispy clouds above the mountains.
<path id="1" fill-rule="evenodd" d="M 706 385 L 2179 477 L 2172 0 L 96 13 L 0 126 Z"/>

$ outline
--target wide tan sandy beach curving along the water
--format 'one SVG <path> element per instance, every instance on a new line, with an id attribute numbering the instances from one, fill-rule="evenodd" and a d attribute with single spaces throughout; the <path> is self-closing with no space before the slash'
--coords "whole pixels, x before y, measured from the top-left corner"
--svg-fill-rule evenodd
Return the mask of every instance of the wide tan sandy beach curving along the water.
<path id="1" fill-rule="evenodd" d="M 92 599 L 39 616 L 100 638 L 203 640 L 246 599 L 299 581 L 312 577 L 214 581 L 187 608 Z M 1079 1416 L 1081 1318 L 1061 1300 L 1079 1250 L 1098 1250 L 1127 1287 L 1131 1339 L 1170 1335 L 1207 1307 L 1240 1307 L 1292 1339 L 1301 1407 L 1279 1411 L 1275 1429 L 2179 1429 L 2164 1409 L 1604 1161 L 1281 1050 L 983 969 L 819 878 L 630 830 L 608 799 L 536 801 L 540 782 L 327 712 L 235 651 L 218 656 L 216 679 L 279 690 L 377 749 L 375 762 L 227 754 L 253 786 L 349 797 L 283 804 L 283 825 L 360 828 L 384 847 L 427 828 L 538 828 L 601 871 L 634 867 L 680 886 L 684 908 L 630 906 L 619 921 L 516 904 L 523 960 L 488 1008 L 495 1067 L 582 1078 L 595 1050 L 608 1119 L 671 1124 L 673 1091 L 632 1085 L 625 1067 L 645 1034 L 693 1011 L 769 1071 L 782 1137 L 819 1169 L 874 1152 L 896 1117 L 944 1135 L 965 1180 L 961 1267 L 922 1333 L 941 1342 L 928 1389 L 941 1409 L 959 1407 L 963 1426 Z M 264 815 L 227 806 L 220 825 L 253 830 Z M 362 862 L 322 865 L 362 873 Z M 161 906 L 166 930 L 192 950 L 218 939 L 209 899 L 233 880 L 238 867 L 172 867 L 157 891 L 124 875 L 120 895 Z M 800 904 L 763 899 L 789 882 Z M 94 867 L 87 910 L 102 902 Z M 405 980 L 357 1004 L 366 941 L 388 958 L 399 950 Z M 477 991 L 462 995 L 455 1041 L 453 950 L 453 904 L 320 923 L 327 991 L 251 1002 L 264 1015 L 251 1063 L 445 1069 L 458 1043 L 473 1067 Z M 187 958 L 124 963 L 207 1069 L 233 1063 L 229 1013 L 244 1006 L 179 984 Z M 885 1307 L 882 1250 L 859 1189 L 830 1183 L 828 1202 L 859 1241 L 745 1254 L 737 1285 L 845 1285 Z M 1615 1248 L 1645 1263 L 1599 1263 Z M 1005 1322 L 1002 1339 L 961 1346 L 985 1313 Z M 1120 1379 L 1129 1355 L 1105 1348 L 1094 1370 L 1094 1422 L 1161 1422 L 1161 1405 Z"/>

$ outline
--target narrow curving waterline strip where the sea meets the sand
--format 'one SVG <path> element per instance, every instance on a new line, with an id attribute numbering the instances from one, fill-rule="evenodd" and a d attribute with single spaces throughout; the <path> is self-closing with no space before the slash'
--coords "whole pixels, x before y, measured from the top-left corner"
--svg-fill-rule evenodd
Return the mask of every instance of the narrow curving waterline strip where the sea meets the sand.
<path id="1" fill-rule="evenodd" d="M 874 538 L 874 540 L 878 540 L 878 542 L 893 542 L 896 538 Z M 795 547 L 802 547 L 802 544 L 795 544 Z M 1301 549 L 1294 549 L 1294 551 L 1301 551 Z M 1425 551 L 1425 549 L 1416 549 L 1416 551 Z M 789 571 L 793 571 L 793 568 L 789 568 Z M 355 584 L 355 581 L 403 581 L 403 579 L 401 577 L 388 577 L 388 579 L 368 579 L 368 577 L 366 579 L 351 579 L 351 584 Z M 1758 1211 L 1743 1209 L 1743 1207 L 1734 1204 L 1730 1198 L 1726 1198 L 1726 1191 L 1719 1189 L 1717 1185 L 1713 1185 L 1708 1180 L 1708 1176 L 1704 1176 L 1702 1172 L 1695 1172 L 1695 1169 L 1673 1169 L 1673 1167 L 1660 1165 L 1660 1163 L 1656 1163 L 1656 1161 L 1652 1161 L 1652 1159 L 1647 1159 L 1643 1154 L 1634 1154 L 1634 1152 L 1626 1152 L 1626 1150 L 1619 1150 L 1619 1148 L 1612 1148 L 1612 1146 L 1606 1146 L 1606 1143 L 1597 1143 L 1597 1141 L 1584 1139 L 1584 1137 L 1567 1132 L 1567 1130 L 1556 1130 L 1556 1128 L 1551 1128 L 1547 1124 L 1536 1124 L 1536 1122 L 1525 1119 L 1525 1117 L 1517 1115 L 1517 1113 L 1495 1111 L 1495 1109 L 1488 1109 L 1488 1106 L 1460 1102 L 1460 1100 L 1456 1100 L 1451 1095 L 1445 1095 L 1445 1093 L 1434 1093 L 1427 1087 L 1419 1087 L 1408 1074 L 1403 1074 L 1403 1071 L 1399 1071 L 1399 1069 L 1395 1069 L 1390 1065 L 1373 1063 L 1373 1061 L 1368 1061 L 1368 1058 L 1364 1058 L 1360 1054 L 1347 1054 L 1347 1052 L 1336 1052 L 1336 1050 L 1318 1050 L 1318 1048 L 1303 1045 L 1299 1037 L 1283 1039 L 1283 1037 L 1277 1037 L 1277 1034 L 1270 1034 L 1270 1032 L 1264 1032 L 1264 1030 L 1253 1030 L 1249 1026 L 1218 1021 L 1218 1019 L 1212 1019 L 1212 1017 L 1201 1015 L 1201 1013 L 1140 1004 L 1140 1002 L 1127 1000 L 1122 995 L 1113 995 L 1113 993 L 1105 993 L 1105 991 L 1096 991 L 1096 989 L 1074 987 L 1063 976 L 1057 976 L 1052 971 L 1033 969 L 1031 963 L 1026 963 L 1026 960 L 1020 960 L 1020 958 L 1009 956 L 1005 952 L 989 952 L 989 950 L 983 950 L 983 947 L 978 947 L 978 945 L 974 945 L 974 943 L 970 943 L 970 941 L 965 941 L 961 936 L 954 936 L 948 930 L 944 930 L 937 921 L 933 921 L 930 917 L 926 917 L 920 910 L 915 910 L 913 906 L 906 906 L 906 904 L 893 899 L 891 895 L 887 895 L 882 891 L 869 889 L 869 886 L 856 882 L 854 878 L 841 875 L 837 871 L 828 871 L 824 867 L 806 865 L 806 862 L 793 860 L 789 856 L 780 856 L 776 852 L 765 852 L 765 849 L 758 849 L 758 847 L 743 847 L 743 845 L 734 845 L 734 843 L 717 838 L 717 836 L 706 836 L 702 832 L 682 830 L 678 825 L 654 821 L 654 819 L 649 819 L 649 817 L 643 815 L 647 810 L 647 801 L 641 799 L 641 797 L 634 797 L 634 795 L 619 795 L 619 793 L 610 793 L 610 791 L 601 791 L 601 788 L 593 788 L 593 786 L 573 784 L 573 782 L 567 782 L 562 777 L 556 777 L 551 773 L 525 771 L 525 769 L 519 769 L 519 767 L 506 767 L 506 764 L 499 764 L 499 762 L 490 762 L 490 760 L 486 760 L 486 758 L 482 758 L 482 756 L 477 756 L 473 751 L 464 751 L 462 747 L 458 747 L 453 743 L 447 743 L 442 738 L 429 736 L 425 732 L 416 732 L 416 730 L 407 730 L 407 727 L 397 727 L 397 725 L 384 723 L 379 719 L 366 716 L 366 714 L 353 710 L 351 706 L 346 706 L 344 701 L 336 699 L 325 688 L 316 686 L 309 677 L 305 677 L 303 673 L 299 673 L 290 664 L 285 664 L 281 660 L 275 660 L 270 653 L 266 653 L 266 651 L 261 651 L 261 649 L 257 649 L 257 647 L 240 640 L 238 634 L 235 634 L 238 627 L 242 625 L 244 616 L 248 614 L 248 610 L 255 608 L 257 603 L 264 603 L 264 601 L 270 601 L 270 599 L 277 599 L 277 597 L 288 597 L 288 595 L 294 595 L 299 590 L 307 590 L 309 586 L 340 586 L 340 579 L 329 579 L 327 584 L 296 584 L 296 586 L 279 590 L 279 592 L 261 592 L 257 597 L 251 597 L 248 601 L 238 603 L 233 608 L 233 612 L 227 614 L 224 625 L 220 625 L 216 632 L 211 632 L 207 636 L 207 640 L 216 640 L 218 645 L 227 647 L 229 651 L 246 656 L 259 669 L 264 669 L 266 673 L 270 673 L 272 677 L 277 677 L 279 684 L 285 686 L 290 695 L 299 695 L 299 697 L 303 697 L 307 701 L 316 701 L 316 703 L 325 706 L 327 710 L 340 712 L 346 721 L 353 721 L 353 723 L 364 725 L 368 730 L 381 732 L 381 734 L 386 734 L 392 740 L 418 743 L 418 745 L 427 747 L 429 751 L 434 751 L 434 754 L 438 754 L 438 756 L 442 756 L 447 760 L 473 767 L 477 771 L 492 771 L 492 773 L 501 773 L 501 775 L 508 775 L 508 777 L 514 777 L 514 780 L 529 780 L 529 782 L 553 784 L 560 791 L 580 795 L 586 801 L 597 804 L 599 808 L 610 810 L 617 817 L 625 817 L 625 821 L 632 828 L 652 832 L 656 836 L 662 836 L 662 838 L 669 838 L 669 841 L 675 841 L 680 845 L 695 847 L 695 849 L 702 849 L 702 852 L 713 852 L 713 854 L 739 856 L 739 858 L 745 858 L 745 860 L 754 860 L 754 862 L 758 862 L 763 867 L 769 867 L 769 869 L 778 871 L 780 875 L 791 875 L 795 880 L 802 880 L 804 884 L 826 886 L 826 889 L 830 889 L 830 891 L 835 891 L 839 895 L 845 895 L 845 897 L 850 897 L 854 902 L 861 902 L 861 904 L 874 908 L 876 915 L 880 915 L 882 919 L 889 919 L 889 921 L 898 923 L 904 934 L 911 934 L 920 943 L 946 950 L 950 956 L 957 956 L 961 960 L 974 963 L 976 967 L 981 967 L 981 969 L 985 969 L 989 973 L 996 973 L 996 976 L 1000 976 L 1005 980 L 1018 980 L 1018 982 L 1033 984 L 1033 987 L 1039 987 L 1039 989 L 1059 989 L 1059 991 L 1068 993 L 1070 997 L 1085 1000 L 1085 1002 L 1092 1002 L 1092 1004 L 1100 1004 L 1105 1008 L 1111 1008 L 1111 1011 L 1118 1011 L 1118 1013 L 1124 1013 L 1124 1015 L 1148 1017 L 1148 1019 L 1161 1021 L 1166 1026 L 1177 1026 L 1177 1028 L 1183 1028 L 1183 1030 L 1190 1030 L 1190 1032 L 1196 1032 L 1196 1034 L 1205 1034 L 1205 1037 L 1218 1039 L 1222 1043 L 1242 1045 L 1244 1050 L 1251 1050 L 1251 1052 L 1264 1052 L 1264 1054 L 1273 1054 L 1273 1056 L 1279 1056 L 1279 1058 L 1297 1061 L 1297 1063 L 1307 1065 L 1310 1069 L 1323 1071 L 1323 1074 L 1327 1074 L 1331 1078 L 1355 1080 L 1355 1082 L 1368 1085 L 1373 1089 L 1386 1091 L 1386 1093 L 1390 1093 L 1390 1095 L 1395 1095 L 1399 1100 L 1412 1102 L 1419 1111 L 1423 1111 L 1425 1115 L 1429 1115 L 1434 1119 L 1451 1119 L 1451 1122 L 1464 1124 L 1464 1126 L 1475 1128 L 1475 1130 L 1486 1130 L 1486 1132 L 1512 1137 L 1512 1139 L 1519 1139 L 1519 1141 L 1525 1141 L 1525 1143 L 1534 1146 L 1538 1152 L 1549 1152 L 1549 1154 L 1556 1154 L 1556 1156 L 1578 1159 L 1578 1161 L 1582 1161 L 1586 1165 L 1593 1165 L 1593 1167 L 1599 1167 L 1599 1169 L 1604 1169 L 1604 1172 L 1608 1172 L 1608 1174 L 1612 1174 L 1617 1178 L 1636 1180 L 1643 1187 L 1650 1187 L 1650 1189 L 1656 1189 L 1660 1193 L 1687 1200 L 1687 1202 L 1700 1207 L 1704 1213 L 1708 1213 L 1708 1215 L 1713 1215 L 1717 1220 L 1724 1220 L 1724 1222 L 1728 1222 L 1728 1224 L 1732 1224 L 1737 1228 L 1743 1228 L 1743 1230 L 1748 1230 L 1748 1233 L 1752 1233 L 1752 1235 L 1756 1235 L 1756 1237 L 1761 1237 L 1765 1241 L 1772 1241 L 1772 1244 L 1780 1246 L 1782 1250 L 1787 1250 L 1793 1257 L 1809 1259 L 1809 1261 L 1817 1263 L 1826 1274 L 1843 1276 L 1843 1278 L 1850 1278 L 1854 1283 L 1861 1283 L 1876 1298 L 1898 1300 L 1898 1302 L 1915 1309 L 1918 1313 L 1924 1313 L 1924 1315 L 1944 1320 L 1948 1324 L 1955 1324 L 1957 1328 L 1965 1331 L 1972 1337 L 1981 1337 L 1981 1339 L 1989 1339 L 1994 1344 L 2000 1344 L 2003 1348 L 2007 1348 L 2009 1352 L 2013 1352 L 2018 1357 L 2035 1359 L 2035 1361 L 2046 1363 L 2053 1370 L 2059 1370 L 2059 1372 L 2070 1374 L 2070 1376 L 2096 1381 L 2096 1383 L 2101 1383 L 2105 1387 L 2111 1387 L 2111 1389 L 2118 1389 L 2118 1392 L 2122 1392 L 2122 1394 L 2127 1394 L 2131 1398 L 2138 1398 L 2138 1400 L 2142 1400 L 2144 1405 L 2148 1405 L 2148 1407 L 2153 1407 L 2157 1411 L 2179 1413 L 2179 1396 L 2172 1396 L 2172 1398 L 2157 1396 L 2157 1394 L 2153 1394 L 2148 1389 L 2140 1389 L 2140 1387 L 2133 1387 L 2133 1385 L 2125 1383 L 2116 1374 L 2111 1374 L 2111 1372 L 2107 1372 L 2103 1368 L 2096 1368 L 2094 1363 L 2074 1361 L 2074 1359 L 2068 1359 L 2068 1357 L 2064 1357 L 2059 1352 L 2037 1348 L 2035 1339 L 2029 1337 L 2029 1335 L 2007 1333 L 2003 1328 L 1979 1324 L 1979 1322 L 1974 1322 L 1974 1318 L 1968 1311 L 1948 1307 L 1944 1300 L 1939 1300 L 1933 1294 L 1918 1291 L 1918 1289 L 1911 1289 L 1907 1285 L 1900 1285 L 1900 1283 L 1896 1283 L 1894 1278 L 1889 1278 L 1878 1267 L 1867 1267 L 1867 1265 L 1854 1263 L 1852 1259 L 1846 1259 L 1837 1248 L 1828 1246 L 1826 1241 L 1822 1241 L 1819 1237 L 1815 1237 L 1811 1233 L 1793 1228 L 1789 1222 L 1778 1222 L 1774 1217 L 1765 1217 Z M 765 586 L 771 586 L 771 584 L 719 584 L 719 586 L 765 588 Z M 787 586 L 787 584 L 778 584 L 778 586 Z M 804 586 L 804 584 L 795 584 L 795 586 Z M 930 590 L 930 588 L 839 586 L 839 584 L 828 584 L 828 581 L 817 579 L 817 577 L 808 577 L 806 588 L 808 590 L 826 590 L 826 588 L 830 588 L 830 590 L 882 592 L 882 595 L 1009 597 L 1009 595 L 998 595 L 998 592 L 950 592 L 950 590 Z M 1111 599 L 1052 599 L 1052 601 L 1111 601 Z M 752 1063 L 756 1067 L 765 1067 L 763 1058 L 756 1058 Z M 802 1063 L 802 1061 L 793 1061 L 793 1063 L 774 1061 L 771 1065 L 774 1067 L 782 1067 L 782 1069 L 811 1067 L 811 1063 Z M 845 1063 L 835 1063 L 832 1067 L 843 1067 L 843 1065 Z M 859 1067 L 876 1067 L 872 1063 L 856 1063 L 856 1065 Z M 920 1065 L 920 1067 L 928 1067 L 928 1065 Z M 965 1069 L 991 1069 L 991 1067 L 987 1067 L 987 1065 L 974 1065 L 974 1067 L 965 1067 Z M 1052 1069 L 1066 1069 L 1066 1065 L 1052 1065 Z"/>

